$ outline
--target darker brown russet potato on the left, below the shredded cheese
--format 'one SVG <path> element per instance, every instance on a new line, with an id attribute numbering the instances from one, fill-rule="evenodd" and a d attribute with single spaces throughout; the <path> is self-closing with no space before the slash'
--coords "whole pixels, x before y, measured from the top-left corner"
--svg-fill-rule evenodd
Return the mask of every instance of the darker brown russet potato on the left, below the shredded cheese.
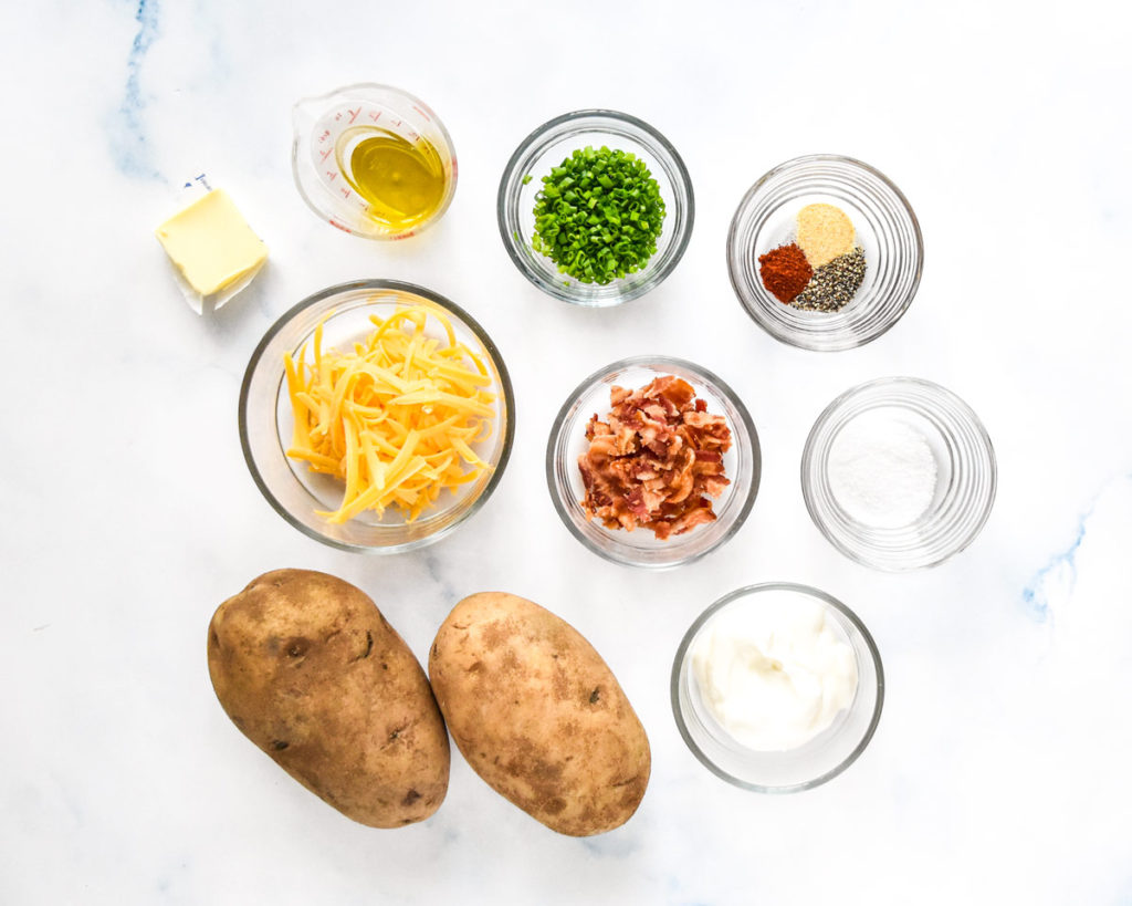
<path id="1" fill-rule="evenodd" d="M 444 801 L 448 734 L 424 672 L 349 582 L 252 580 L 213 615 L 208 674 L 235 726 L 348 818 L 402 827 Z"/>

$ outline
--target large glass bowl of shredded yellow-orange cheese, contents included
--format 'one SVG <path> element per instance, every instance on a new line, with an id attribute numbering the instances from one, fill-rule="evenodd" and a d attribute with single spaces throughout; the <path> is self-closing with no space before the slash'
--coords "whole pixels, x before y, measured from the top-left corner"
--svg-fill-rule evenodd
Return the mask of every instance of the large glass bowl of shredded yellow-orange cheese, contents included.
<path id="1" fill-rule="evenodd" d="M 506 366 L 463 309 L 360 280 L 283 315 L 251 356 L 240 443 L 267 502 L 344 550 L 443 538 L 503 475 L 515 434 Z"/>

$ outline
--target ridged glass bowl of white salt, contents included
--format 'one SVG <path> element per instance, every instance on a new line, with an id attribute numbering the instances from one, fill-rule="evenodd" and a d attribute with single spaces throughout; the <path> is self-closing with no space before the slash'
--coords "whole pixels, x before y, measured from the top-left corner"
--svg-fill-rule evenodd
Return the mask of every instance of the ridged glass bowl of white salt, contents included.
<path id="1" fill-rule="evenodd" d="M 975 540 L 994 505 L 986 428 L 937 384 L 886 377 L 826 407 L 801 456 L 814 524 L 848 557 L 899 572 L 943 563 Z"/>

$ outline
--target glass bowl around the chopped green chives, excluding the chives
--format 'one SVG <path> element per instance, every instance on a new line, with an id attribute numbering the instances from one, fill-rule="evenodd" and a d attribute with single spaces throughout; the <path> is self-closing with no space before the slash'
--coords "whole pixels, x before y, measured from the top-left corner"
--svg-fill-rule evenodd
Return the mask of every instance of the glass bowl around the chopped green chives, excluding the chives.
<path id="1" fill-rule="evenodd" d="M 610 283 L 580 283 L 531 247 L 534 236 L 534 196 L 542 177 L 577 148 L 607 145 L 644 161 L 664 199 L 664 221 L 657 253 L 643 268 Z M 524 179 L 530 177 L 524 185 Z M 507 162 L 499 182 L 499 233 L 515 266 L 535 287 L 573 305 L 604 308 L 620 305 L 660 285 L 679 263 L 692 236 L 695 203 L 684 161 L 649 123 L 612 110 L 578 110 L 556 117 L 531 133 Z"/>

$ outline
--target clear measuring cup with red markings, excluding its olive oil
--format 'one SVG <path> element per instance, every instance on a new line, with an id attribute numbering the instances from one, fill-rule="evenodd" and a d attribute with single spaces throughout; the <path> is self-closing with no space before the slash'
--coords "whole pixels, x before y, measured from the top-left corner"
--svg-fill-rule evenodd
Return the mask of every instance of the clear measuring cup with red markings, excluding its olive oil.
<path id="1" fill-rule="evenodd" d="M 332 226 L 367 239 L 408 239 L 439 220 L 452 204 L 456 152 L 444 123 L 419 97 L 389 85 L 348 85 L 300 99 L 292 109 L 292 123 L 294 183 L 310 210 Z M 415 220 L 391 221 L 359 191 L 350 169 L 352 151 L 371 136 L 430 146 L 435 155 L 428 156 L 444 176 L 443 195 L 435 207 Z"/>

